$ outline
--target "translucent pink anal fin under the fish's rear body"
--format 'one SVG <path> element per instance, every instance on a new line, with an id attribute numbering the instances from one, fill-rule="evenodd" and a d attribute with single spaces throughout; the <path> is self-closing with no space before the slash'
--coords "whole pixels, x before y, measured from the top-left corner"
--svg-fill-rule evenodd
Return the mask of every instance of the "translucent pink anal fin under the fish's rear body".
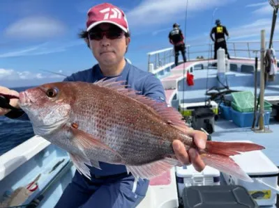
<path id="1" fill-rule="evenodd" d="M 151 179 L 162 175 L 177 164 L 179 164 L 177 159 L 166 157 L 165 159 L 147 163 L 142 166 L 126 166 L 126 168 L 127 172 L 132 173 L 136 178 Z"/>

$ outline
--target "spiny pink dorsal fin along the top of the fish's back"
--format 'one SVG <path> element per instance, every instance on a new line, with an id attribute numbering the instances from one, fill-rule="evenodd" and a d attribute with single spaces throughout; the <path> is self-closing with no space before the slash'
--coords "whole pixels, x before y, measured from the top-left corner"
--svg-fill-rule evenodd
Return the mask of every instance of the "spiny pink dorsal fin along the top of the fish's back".
<path id="1" fill-rule="evenodd" d="M 188 126 L 186 125 L 186 122 L 182 120 L 183 116 L 179 113 L 179 111 L 173 107 L 167 107 L 165 102 L 156 102 L 150 97 L 139 95 L 139 91 L 126 88 L 126 86 L 128 86 L 124 84 L 126 81 L 116 81 L 117 78 L 118 77 L 114 77 L 112 79 L 100 79 L 100 81 L 97 81 L 94 84 L 111 88 L 112 90 L 116 90 L 123 95 L 137 100 L 138 102 L 146 104 L 151 107 L 151 109 L 156 111 L 156 113 L 158 113 L 158 115 L 160 115 L 160 117 L 163 118 L 168 125 L 172 125 L 172 127 L 178 129 L 179 131 L 186 131 L 186 129 L 188 129 Z"/>

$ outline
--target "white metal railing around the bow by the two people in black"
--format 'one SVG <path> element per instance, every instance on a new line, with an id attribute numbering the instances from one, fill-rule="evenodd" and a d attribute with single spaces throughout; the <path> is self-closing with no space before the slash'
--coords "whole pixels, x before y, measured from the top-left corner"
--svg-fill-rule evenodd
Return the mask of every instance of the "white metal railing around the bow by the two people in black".
<path id="1" fill-rule="evenodd" d="M 259 57 L 260 41 L 234 41 L 227 42 L 227 49 L 232 58 L 248 58 Z M 269 42 L 266 41 L 266 48 Z M 273 40 L 273 48 L 279 48 L 279 40 Z M 197 58 L 206 60 L 212 59 L 214 55 L 214 44 L 186 45 L 187 60 L 196 60 Z M 166 67 L 174 67 L 174 49 L 169 47 L 158 51 L 151 51 L 148 56 L 148 71 L 157 74 L 166 69 Z M 180 56 L 181 58 L 181 56 Z"/>

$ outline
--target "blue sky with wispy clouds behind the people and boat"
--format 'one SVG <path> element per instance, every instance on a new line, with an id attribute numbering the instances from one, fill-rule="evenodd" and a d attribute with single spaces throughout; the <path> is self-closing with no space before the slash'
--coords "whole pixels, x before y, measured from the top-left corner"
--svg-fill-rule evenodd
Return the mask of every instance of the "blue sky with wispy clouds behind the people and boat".
<path id="1" fill-rule="evenodd" d="M 70 75 L 96 63 L 83 40 L 86 12 L 104 1 L 1 0 L 0 86 L 33 86 Z M 172 47 L 167 35 L 178 22 L 189 45 L 209 43 L 215 19 L 227 26 L 229 41 L 259 40 L 261 29 L 269 38 L 272 8 L 268 1 L 254 0 L 115 0 L 127 15 L 132 34 L 126 58 L 142 70 L 149 51 Z M 213 18 L 212 18 L 213 17 Z M 274 39 L 278 35 L 278 26 Z"/>

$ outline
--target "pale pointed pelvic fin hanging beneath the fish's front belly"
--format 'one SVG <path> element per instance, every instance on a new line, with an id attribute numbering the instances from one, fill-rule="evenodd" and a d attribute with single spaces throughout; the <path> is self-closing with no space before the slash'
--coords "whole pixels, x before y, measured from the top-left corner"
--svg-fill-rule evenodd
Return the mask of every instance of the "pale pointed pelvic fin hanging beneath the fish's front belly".
<path id="1" fill-rule="evenodd" d="M 81 157 L 80 155 L 77 154 L 69 153 L 69 155 L 70 155 L 70 159 L 73 161 L 75 165 L 75 168 L 77 168 L 77 171 L 80 172 L 80 174 L 91 179 L 90 169 L 88 167 L 91 166 L 91 162 L 89 161 L 89 159 Z"/>

